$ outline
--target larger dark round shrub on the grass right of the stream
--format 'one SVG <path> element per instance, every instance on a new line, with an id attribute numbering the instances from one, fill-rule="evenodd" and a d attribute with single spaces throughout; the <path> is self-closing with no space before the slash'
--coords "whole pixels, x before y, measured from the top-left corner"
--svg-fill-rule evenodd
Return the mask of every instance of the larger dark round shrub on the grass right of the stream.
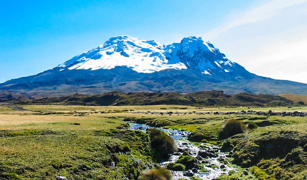
<path id="1" fill-rule="evenodd" d="M 229 119 L 225 123 L 222 131 L 220 132 L 220 138 L 226 139 L 236 134 L 241 134 L 247 131 L 247 127 L 241 121 L 236 119 Z"/>

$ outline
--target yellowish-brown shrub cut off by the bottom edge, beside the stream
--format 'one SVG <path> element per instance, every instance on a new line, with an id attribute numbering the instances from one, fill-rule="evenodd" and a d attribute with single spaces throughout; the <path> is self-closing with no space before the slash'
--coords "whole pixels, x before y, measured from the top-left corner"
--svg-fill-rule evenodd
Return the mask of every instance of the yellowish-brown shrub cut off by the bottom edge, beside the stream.
<path id="1" fill-rule="evenodd" d="M 145 170 L 141 174 L 141 178 L 144 180 L 171 180 L 172 174 L 169 170 L 159 167 L 153 170 Z"/>

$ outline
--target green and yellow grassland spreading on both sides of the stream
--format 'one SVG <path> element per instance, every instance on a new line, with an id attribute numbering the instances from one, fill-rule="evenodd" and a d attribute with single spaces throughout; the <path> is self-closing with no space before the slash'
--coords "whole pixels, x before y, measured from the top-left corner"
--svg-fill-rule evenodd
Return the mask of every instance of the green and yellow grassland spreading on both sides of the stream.
<path id="1" fill-rule="evenodd" d="M 230 141 L 234 152 L 232 163 L 238 171 L 219 177 L 221 180 L 235 179 L 245 170 L 251 176 L 241 179 L 306 179 L 306 117 L 193 113 L 306 112 L 304 106 L 251 109 L 181 105 L 21 107 L 31 111 L 0 106 L 0 179 L 54 179 L 56 175 L 69 179 L 138 179 L 142 170 L 153 167 L 152 149 L 148 136 L 130 131 L 123 119 L 186 129 L 192 131 L 188 138 L 195 142 L 222 146 Z M 255 123 L 258 128 L 222 139 L 219 133 L 225 121 L 231 118 L 244 124 Z M 115 166 L 111 166 L 111 162 L 115 162 Z"/>

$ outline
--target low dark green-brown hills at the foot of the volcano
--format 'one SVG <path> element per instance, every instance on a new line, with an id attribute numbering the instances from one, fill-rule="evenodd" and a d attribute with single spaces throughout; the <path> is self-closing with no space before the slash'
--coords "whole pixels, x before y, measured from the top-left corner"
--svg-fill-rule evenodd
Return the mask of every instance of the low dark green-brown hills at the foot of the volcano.
<path id="1" fill-rule="evenodd" d="M 268 94 L 238 93 L 224 94 L 223 91 L 203 91 L 181 94 L 177 92 L 119 92 L 112 91 L 96 95 L 74 94 L 64 97 L 41 98 L 15 101 L 15 104 L 57 104 L 87 106 L 120 105 L 194 105 L 194 106 L 288 106 L 293 101 Z"/>

